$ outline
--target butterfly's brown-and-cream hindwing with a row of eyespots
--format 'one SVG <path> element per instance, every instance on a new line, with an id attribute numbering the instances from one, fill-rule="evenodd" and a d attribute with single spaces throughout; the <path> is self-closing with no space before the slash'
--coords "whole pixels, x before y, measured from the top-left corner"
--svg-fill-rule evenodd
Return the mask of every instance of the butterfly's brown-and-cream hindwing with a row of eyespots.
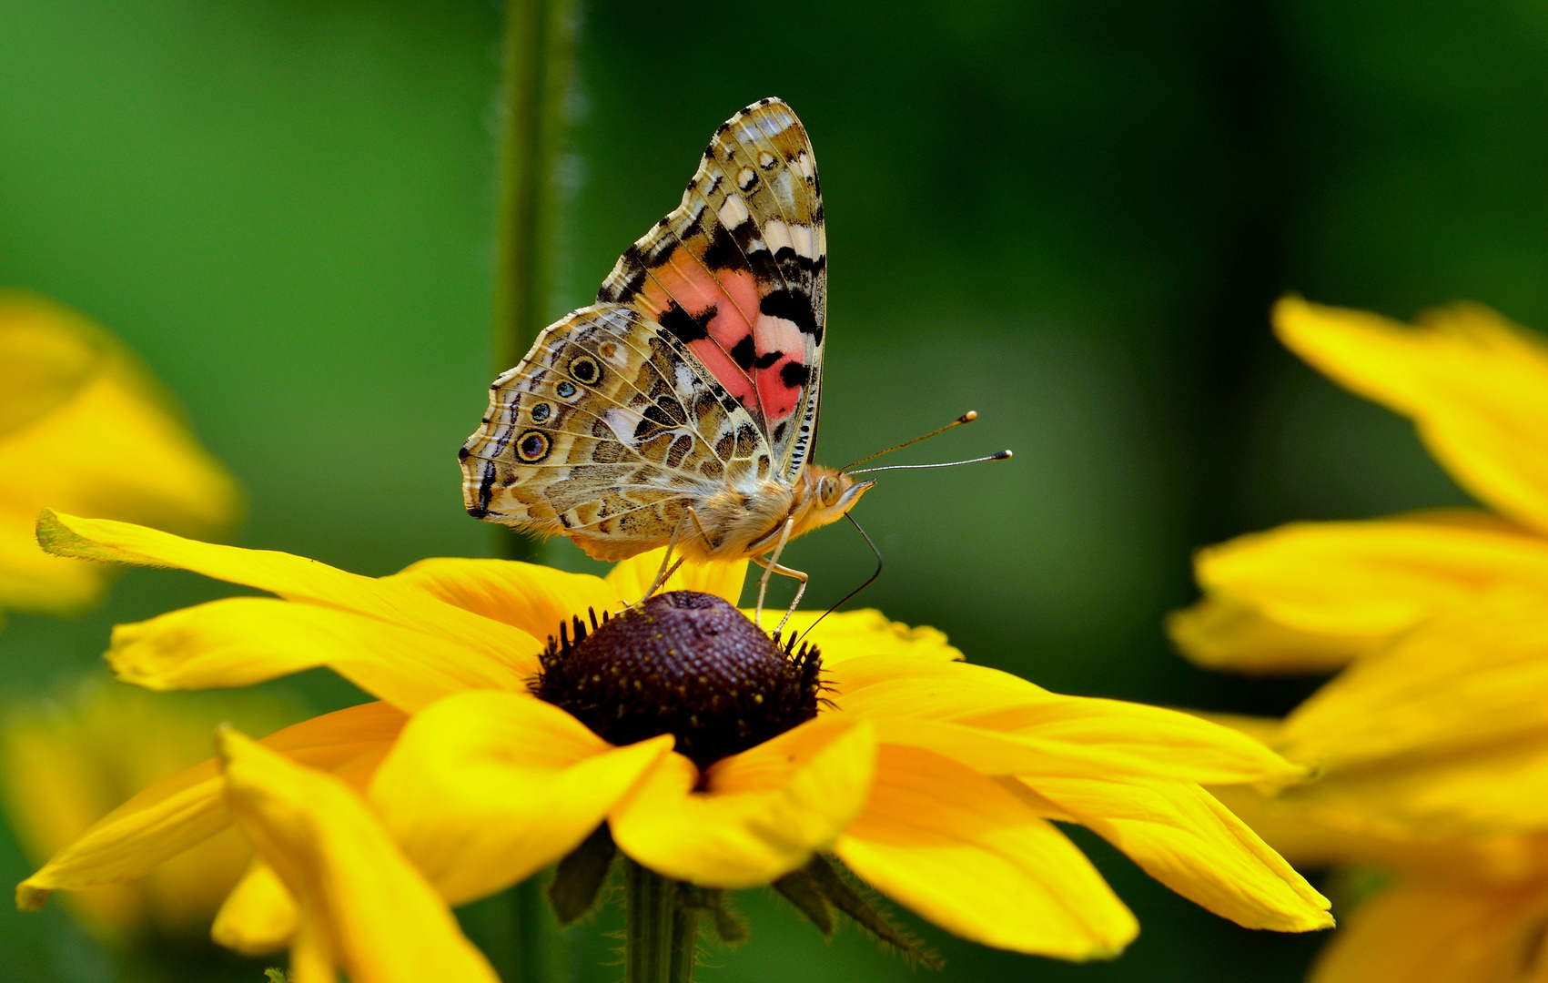
<path id="1" fill-rule="evenodd" d="M 467 512 L 599 560 L 664 545 L 687 506 L 772 474 L 757 424 L 661 324 L 580 308 L 491 387 L 461 450 Z"/>

